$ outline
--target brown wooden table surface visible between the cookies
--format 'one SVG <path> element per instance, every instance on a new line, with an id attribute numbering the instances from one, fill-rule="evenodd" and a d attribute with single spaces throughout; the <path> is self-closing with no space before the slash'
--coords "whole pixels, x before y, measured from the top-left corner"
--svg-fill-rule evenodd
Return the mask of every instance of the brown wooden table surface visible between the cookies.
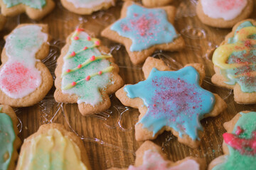
<path id="1" fill-rule="evenodd" d="M 256 1 L 255 1 L 256 2 Z M 55 1 L 56 7 L 43 20 L 37 23 L 47 23 L 53 40 L 50 45 L 50 54 L 43 62 L 53 74 L 56 59 L 60 49 L 65 45 L 65 38 L 78 26 L 82 26 L 100 37 L 100 31 L 119 18 L 122 1 L 107 11 L 98 11 L 90 16 L 79 16 L 65 10 L 59 0 Z M 255 3 L 256 4 L 256 3 Z M 212 159 L 223 154 L 222 142 L 223 123 L 233 118 L 240 111 L 256 111 L 255 105 L 239 105 L 234 102 L 233 91 L 223 89 L 211 84 L 210 77 L 214 74 L 211 54 L 215 47 L 223 41 L 231 29 L 218 29 L 204 26 L 196 17 L 196 0 L 179 0 L 174 3 L 177 7 L 175 27 L 186 41 L 186 49 L 181 52 L 155 52 L 154 57 L 161 58 L 172 69 L 180 69 L 183 65 L 201 62 L 206 68 L 206 79 L 203 88 L 219 94 L 228 109 L 215 118 L 206 118 L 201 121 L 205 135 L 198 149 L 191 149 L 178 143 L 171 132 L 164 132 L 154 142 L 160 145 L 169 159 L 178 161 L 184 157 L 194 156 L 206 160 L 207 164 Z M 254 9 L 255 16 L 256 8 Z M 11 32 L 19 23 L 36 23 L 25 14 L 8 18 L 1 37 Z M 122 45 L 102 38 L 102 43 L 112 50 L 116 63 L 120 67 L 120 75 L 125 84 L 136 84 L 144 80 L 142 65 L 133 65 Z M 0 41 L 4 47 L 4 40 Z M 54 74 L 53 74 L 54 75 Z M 62 123 L 66 128 L 77 133 L 84 141 L 90 164 L 93 169 L 107 169 L 112 166 L 127 167 L 134 163 L 135 151 L 142 142 L 136 142 L 134 125 L 137 123 L 139 112 L 134 108 L 124 107 L 112 95 L 112 106 L 104 113 L 82 117 L 76 104 L 56 103 L 53 98 L 53 87 L 49 94 L 35 106 L 16 108 L 16 114 L 21 120 L 18 128 L 21 140 L 36 132 L 40 125 L 45 123 Z"/>

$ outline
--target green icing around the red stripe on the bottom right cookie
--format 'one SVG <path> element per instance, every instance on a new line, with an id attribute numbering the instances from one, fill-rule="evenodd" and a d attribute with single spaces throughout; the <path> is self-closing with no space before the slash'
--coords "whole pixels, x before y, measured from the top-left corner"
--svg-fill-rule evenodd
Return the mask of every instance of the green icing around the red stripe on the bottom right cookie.
<path id="1" fill-rule="evenodd" d="M 256 112 L 240 113 L 242 115 L 238 122 L 235 124 L 233 134 L 235 130 L 240 126 L 244 132 L 239 136 L 241 138 L 250 139 L 252 132 L 256 130 Z M 255 170 L 256 169 L 256 155 L 242 155 L 238 150 L 228 146 L 229 155 L 225 157 L 223 164 L 218 164 L 213 170 Z"/>

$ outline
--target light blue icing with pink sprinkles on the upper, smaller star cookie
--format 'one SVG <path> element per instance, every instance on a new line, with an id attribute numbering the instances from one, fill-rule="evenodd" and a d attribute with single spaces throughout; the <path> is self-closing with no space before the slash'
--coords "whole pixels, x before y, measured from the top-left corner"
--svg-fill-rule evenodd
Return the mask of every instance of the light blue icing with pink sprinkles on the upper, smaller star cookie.
<path id="1" fill-rule="evenodd" d="M 127 17 L 114 23 L 111 30 L 132 40 L 130 51 L 142 51 L 153 45 L 173 42 L 176 30 L 161 8 L 144 8 L 132 4 Z"/>

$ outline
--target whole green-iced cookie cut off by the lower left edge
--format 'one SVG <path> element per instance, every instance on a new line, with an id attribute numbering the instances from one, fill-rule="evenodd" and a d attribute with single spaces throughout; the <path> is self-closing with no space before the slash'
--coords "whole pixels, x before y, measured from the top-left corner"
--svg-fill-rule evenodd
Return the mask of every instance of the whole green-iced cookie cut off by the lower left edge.
<path id="1" fill-rule="evenodd" d="M 0 105 L 0 169 L 13 170 L 18 159 L 18 118 L 10 106 Z"/>

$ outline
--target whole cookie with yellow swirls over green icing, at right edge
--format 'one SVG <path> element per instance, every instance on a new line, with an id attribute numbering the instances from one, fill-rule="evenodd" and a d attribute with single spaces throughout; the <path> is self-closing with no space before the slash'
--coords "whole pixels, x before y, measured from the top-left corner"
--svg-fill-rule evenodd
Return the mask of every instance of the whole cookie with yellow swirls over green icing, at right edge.
<path id="1" fill-rule="evenodd" d="M 236 24 L 213 53 L 213 84 L 234 90 L 237 103 L 256 103 L 256 21 Z"/>

